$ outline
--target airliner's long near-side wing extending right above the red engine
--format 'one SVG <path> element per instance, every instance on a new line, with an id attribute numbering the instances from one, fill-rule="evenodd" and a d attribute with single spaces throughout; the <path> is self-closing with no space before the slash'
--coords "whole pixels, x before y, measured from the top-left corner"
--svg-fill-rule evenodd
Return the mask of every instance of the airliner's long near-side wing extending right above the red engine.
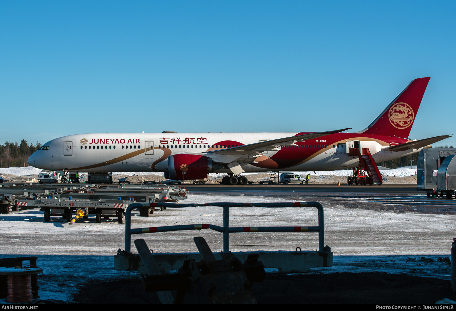
<path id="1" fill-rule="evenodd" d="M 302 142 L 302 141 L 305 141 L 306 139 L 312 139 L 312 138 L 317 138 L 317 137 L 321 137 L 321 136 L 325 136 L 325 135 L 343 132 L 350 128 L 351 127 L 347 127 L 347 128 L 342 128 L 341 130 L 337 130 L 337 131 L 308 133 L 308 134 L 304 134 L 304 135 L 297 135 L 297 136 L 273 139 L 273 140 L 268 140 L 268 141 L 261 142 L 261 143 L 251 143 L 249 145 L 243 145 L 243 146 L 239 146 L 239 147 L 226 148 L 226 149 L 221 149 L 221 150 L 212 150 L 212 151 L 209 151 L 208 153 L 241 156 L 241 155 L 247 154 L 247 153 L 262 153 L 266 150 L 280 150 L 280 149 L 278 149 L 280 146 L 292 145 L 293 143 Z"/>

